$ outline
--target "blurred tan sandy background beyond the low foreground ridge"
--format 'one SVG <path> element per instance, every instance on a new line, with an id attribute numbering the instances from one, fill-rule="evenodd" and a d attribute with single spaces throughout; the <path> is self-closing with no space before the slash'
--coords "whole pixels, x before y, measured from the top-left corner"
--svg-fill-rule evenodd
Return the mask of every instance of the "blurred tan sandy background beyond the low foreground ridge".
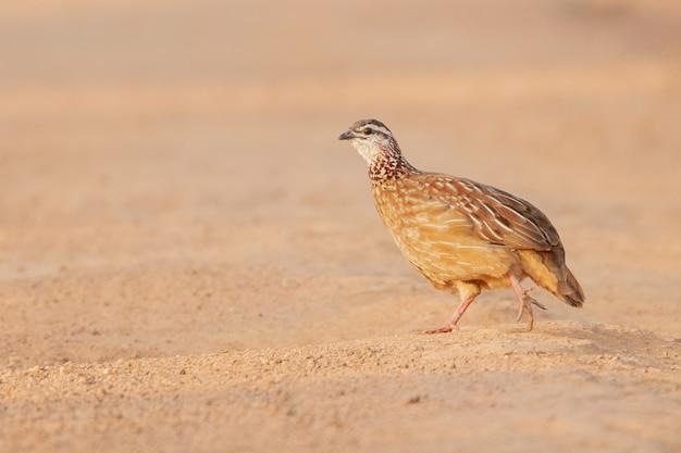
<path id="1" fill-rule="evenodd" d="M 543 319 L 678 335 L 680 75 L 674 0 L 5 1 L 0 365 L 439 324 L 336 140 L 362 117 L 549 215 L 589 303 Z"/>

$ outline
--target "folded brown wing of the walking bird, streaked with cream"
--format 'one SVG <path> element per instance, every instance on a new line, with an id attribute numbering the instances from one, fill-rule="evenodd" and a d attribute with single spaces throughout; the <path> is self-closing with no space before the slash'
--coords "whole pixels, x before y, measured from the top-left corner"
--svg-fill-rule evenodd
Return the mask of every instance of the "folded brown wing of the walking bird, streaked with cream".
<path id="1" fill-rule="evenodd" d="M 503 190 L 441 174 L 412 176 L 429 188 L 433 201 L 466 217 L 475 235 L 490 244 L 550 251 L 562 248 L 548 218 L 531 203 Z"/>

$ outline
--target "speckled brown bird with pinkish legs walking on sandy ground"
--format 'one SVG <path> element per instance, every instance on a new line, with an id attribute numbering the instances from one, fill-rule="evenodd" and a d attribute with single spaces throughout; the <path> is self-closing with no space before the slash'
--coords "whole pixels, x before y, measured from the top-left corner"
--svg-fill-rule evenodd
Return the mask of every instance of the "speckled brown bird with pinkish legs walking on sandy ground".
<path id="1" fill-rule="evenodd" d="M 423 334 L 458 329 L 482 291 L 507 288 L 518 301 L 517 322 L 527 314 L 532 330 L 532 307 L 546 306 L 523 289 L 525 278 L 570 306 L 583 305 L 560 237 L 533 204 L 468 178 L 416 168 L 377 119 L 360 119 L 338 139 L 350 141 L 367 162 L 376 211 L 403 255 L 436 289 L 460 299 L 442 327 Z"/>

